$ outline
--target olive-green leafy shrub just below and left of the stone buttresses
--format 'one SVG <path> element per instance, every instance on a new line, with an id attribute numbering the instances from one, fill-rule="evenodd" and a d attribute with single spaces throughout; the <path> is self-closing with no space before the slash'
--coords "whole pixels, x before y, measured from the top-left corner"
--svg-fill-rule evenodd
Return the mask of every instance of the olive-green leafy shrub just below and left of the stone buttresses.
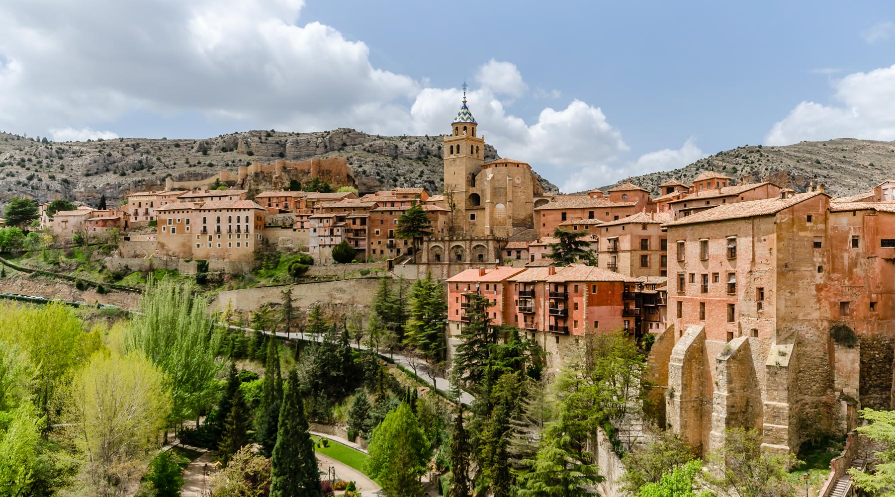
<path id="1" fill-rule="evenodd" d="M 638 493 L 645 484 L 658 484 L 674 468 L 693 460 L 690 447 L 670 430 L 655 430 L 649 443 L 638 444 L 622 457 L 622 479 L 630 493 Z"/>

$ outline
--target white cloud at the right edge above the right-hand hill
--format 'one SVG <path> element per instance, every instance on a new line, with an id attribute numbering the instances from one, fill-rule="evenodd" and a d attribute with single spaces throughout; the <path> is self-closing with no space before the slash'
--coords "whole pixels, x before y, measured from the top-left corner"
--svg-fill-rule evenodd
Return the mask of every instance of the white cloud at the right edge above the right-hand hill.
<path id="1" fill-rule="evenodd" d="M 803 101 L 776 122 L 766 145 L 834 138 L 895 139 L 895 65 L 833 81 L 833 105 Z"/>

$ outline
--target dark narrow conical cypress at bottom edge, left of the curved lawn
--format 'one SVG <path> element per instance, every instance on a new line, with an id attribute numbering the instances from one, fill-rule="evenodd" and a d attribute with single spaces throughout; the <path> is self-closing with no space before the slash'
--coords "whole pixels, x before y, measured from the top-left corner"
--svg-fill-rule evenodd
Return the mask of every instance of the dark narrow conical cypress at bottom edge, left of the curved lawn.
<path id="1" fill-rule="evenodd" d="M 277 445 L 270 458 L 270 497 L 320 497 L 320 474 L 314 444 L 304 417 L 298 373 L 289 371 L 280 409 Z"/>

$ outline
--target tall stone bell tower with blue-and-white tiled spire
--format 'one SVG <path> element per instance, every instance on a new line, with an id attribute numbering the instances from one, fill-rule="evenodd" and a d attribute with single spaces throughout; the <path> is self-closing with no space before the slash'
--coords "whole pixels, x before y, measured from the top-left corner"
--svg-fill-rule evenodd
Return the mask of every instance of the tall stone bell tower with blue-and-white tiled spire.
<path id="1" fill-rule="evenodd" d="M 441 149 L 444 156 L 444 188 L 454 195 L 454 225 L 457 233 L 465 232 L 469 225 L 466 208 L 481 204 L 481 196 L 476 186 L 476 176 L 482 172 L 485 163 L 485 140 L 476 128 L 473 113 L 466 106 L 466 83 L 463 83 L 463 105 L 451 122 L 450 134 L 444 139 Z M 478 185 L 481 188 L 482 185 Z M 474 220 L 473 220 L 474 224 Z"/>

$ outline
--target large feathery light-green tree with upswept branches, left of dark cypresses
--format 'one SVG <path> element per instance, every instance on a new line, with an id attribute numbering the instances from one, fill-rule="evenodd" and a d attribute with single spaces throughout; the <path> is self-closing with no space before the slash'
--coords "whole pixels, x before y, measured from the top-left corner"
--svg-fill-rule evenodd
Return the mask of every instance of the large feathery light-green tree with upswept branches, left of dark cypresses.
<path id="1" fill-rule="evenodd" d="M 222 334 L 209 316 L 208 300 L 193 283 L 149 280 L 140 300 L 141 314 L 125 336 L 168 377 L 175 423 L 197 419 L 217 397 L 217 361 Z M 198 425 L 198 423 L 197 423 Z"/>

